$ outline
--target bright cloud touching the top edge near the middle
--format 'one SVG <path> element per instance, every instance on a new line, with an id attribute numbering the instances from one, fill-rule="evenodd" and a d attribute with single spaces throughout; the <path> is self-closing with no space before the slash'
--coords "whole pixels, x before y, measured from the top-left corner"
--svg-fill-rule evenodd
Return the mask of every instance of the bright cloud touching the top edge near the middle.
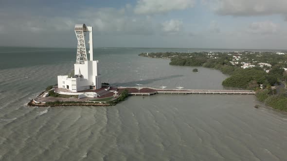
<path id="1" fill-rule="evenodd" d="M 195 0 L 138 0 L 134 12 L 136 14 L 160 14 L 192 8 L 194 5 Z"/>

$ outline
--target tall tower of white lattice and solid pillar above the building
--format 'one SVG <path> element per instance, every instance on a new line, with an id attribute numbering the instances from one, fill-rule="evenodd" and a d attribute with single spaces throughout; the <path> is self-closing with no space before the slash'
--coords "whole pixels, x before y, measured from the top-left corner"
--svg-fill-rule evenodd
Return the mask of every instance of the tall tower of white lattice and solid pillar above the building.
<path id="1" fill-rule="evenodd" d="M 76 64 L 84 64 L 85 61 L 87 61 L 87 50 L 86 50 L 86 42 L 85 37 L 86 33 L 90 32 L 89 38 L 90 38 L 90 61 L 93 60 L 93 43 L 92 43 L 92 27 L 86 26 L 85 24 L 76 24 L 75 25 L 75 33 L 78 40 L 77 45 L 77 58 L 76 58 Z"/>

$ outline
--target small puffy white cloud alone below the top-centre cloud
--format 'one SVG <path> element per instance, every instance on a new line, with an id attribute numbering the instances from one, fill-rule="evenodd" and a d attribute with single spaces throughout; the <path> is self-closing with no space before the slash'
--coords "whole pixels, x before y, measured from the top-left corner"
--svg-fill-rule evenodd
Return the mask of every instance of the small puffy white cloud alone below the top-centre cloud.
<path id="1" fill-rule="evenodd" d="M 162 31 L 167 33 L 176 33 L 182 29 L 183 22 L 176 19 L 165 21 L 162 24 Z"/>

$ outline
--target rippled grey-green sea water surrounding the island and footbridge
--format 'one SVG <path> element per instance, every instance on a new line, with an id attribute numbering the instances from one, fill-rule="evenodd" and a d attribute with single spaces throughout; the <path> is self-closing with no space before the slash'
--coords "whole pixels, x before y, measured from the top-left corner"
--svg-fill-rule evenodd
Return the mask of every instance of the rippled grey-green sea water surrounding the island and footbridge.
<path id="1" fill-rule="evenodd" d="M 193 49 L 94 50 L 102 80 L 114 85 L 223 89 L 228 77 L 138 56 Z M 71 71 L 75 49 L 0 48 L 0 55 L 0 160 L 287 160 L 287 115 L 252 95 L 156 95 L 112 107 L 32 108 L 26 106 L 31 98 Z"/>

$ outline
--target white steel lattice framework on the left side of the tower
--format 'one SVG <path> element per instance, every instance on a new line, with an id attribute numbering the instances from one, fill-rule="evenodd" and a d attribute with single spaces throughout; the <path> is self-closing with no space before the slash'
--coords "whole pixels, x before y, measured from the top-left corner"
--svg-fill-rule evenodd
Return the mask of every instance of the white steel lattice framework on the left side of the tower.
<path id="1" fill-rule="evenodd" d="M 75 33 L 78 39 L 76 64 L 84 64 L 84 61 L 87 61 L 84 32 L 86 31 L 84 31 L 83 28 L 75 28 Z"/>

